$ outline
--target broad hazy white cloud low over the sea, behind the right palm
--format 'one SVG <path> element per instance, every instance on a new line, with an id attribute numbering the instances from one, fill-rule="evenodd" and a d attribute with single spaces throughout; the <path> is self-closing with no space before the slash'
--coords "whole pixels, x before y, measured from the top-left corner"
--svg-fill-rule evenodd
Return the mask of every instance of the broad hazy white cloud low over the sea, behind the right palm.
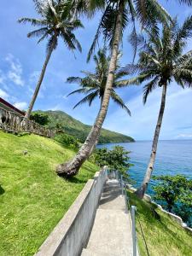
<path id="1" fill-rule="evenodd" d="M 105 127 L 139 139 L 152 139 L 160 110 L 161 90 L 157 89 L 148 96 L 143 106 L 142 95 L 126 102 L 131 109 L 131 118 L 122 109 L 108 115 Z M 166 109 L 160 131 L 160 139 L 173 139 L 178 134 L 192 134 L 192 90 L 181 89 L 175 84 L 168 88 Z M 186 131 L 186 127 L 189 129 Z"/>

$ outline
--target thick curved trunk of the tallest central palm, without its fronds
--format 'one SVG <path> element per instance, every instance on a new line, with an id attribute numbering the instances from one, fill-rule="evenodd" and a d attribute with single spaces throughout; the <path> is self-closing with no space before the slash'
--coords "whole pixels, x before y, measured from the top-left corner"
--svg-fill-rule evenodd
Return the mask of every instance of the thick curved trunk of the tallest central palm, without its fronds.
<path id="1" fill-rule="evenodd" d="M 88 137 L 86 138 L 84 145 L 79 149 L 78 154 L 75 155 L 72 161 L 68 163 L 61 164 L 57 166 L 56 172 L 60 175 L 73 176 L 79 172 L 79 168 L 82 166 L 84 161 L 89 157 L 90 151 L 98 140 L 102 124 L 105 120 L 106 114 L 108 112 L 108 104 L 111 96 L 111 89 L 113 87 L 114 72 L 117 66 L 117 58 L 119 53 L 119 43 L 121 40 L 121 30 L 122 30 L 122 16 L 124 10 L 124 0 L 119 3 L 119 12 L 117 15 L 114 38 L 113 38 L 113 48 L 111 54 L 111 61 L 108 68 L 108 79 L 102 99 L 102 106 L 97 114 L 96 121 L 92 126 Z"/>

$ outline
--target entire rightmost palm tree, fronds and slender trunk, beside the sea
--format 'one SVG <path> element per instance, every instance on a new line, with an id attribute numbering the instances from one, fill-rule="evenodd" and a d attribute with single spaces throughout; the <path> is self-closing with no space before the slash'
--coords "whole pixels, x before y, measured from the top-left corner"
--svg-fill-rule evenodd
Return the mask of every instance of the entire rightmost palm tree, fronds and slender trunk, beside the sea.
<path id="1" fill-rule="evenodd" d="M 154 169 L 168 86 L 173 80 L 183 89 L 192 86 L 192 50 L 183 54 L 187 39 L 192 37 L 192 16 L 189 16 L 181 27 L 178 26 L 176 19 L 172 21 L 171 26 L 164 26 L 161 38 L 153 31 L 147 31 L 147 34 L 148 41 L 143 45 L 143 51 L 139 55 L 138 63 L 136 65 L 127 65 L 123 69 L 124 72 L 130 74 L 138 74 L 137 77 L 128 79 L 128 84 L 147 83 L 143 87 L 143 103 L 147 102 L 148 95 L 154 89 L 162 88 L 160 113 L 154 131 L 150 160 L 142 186 L 136 192 L 141 198 L 143 198 L 148 188 Z"/>

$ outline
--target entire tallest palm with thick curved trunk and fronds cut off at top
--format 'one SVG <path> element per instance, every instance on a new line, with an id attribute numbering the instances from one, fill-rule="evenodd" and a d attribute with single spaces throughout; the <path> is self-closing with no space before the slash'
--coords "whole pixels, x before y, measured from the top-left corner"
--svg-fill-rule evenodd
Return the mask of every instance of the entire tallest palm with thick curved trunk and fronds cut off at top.
<path id="1" fill-rule="evenodd" d="M 143 26 L 157 27 L 157 21 L 166 22 L 169 15 L 156 0 L 87 0 L 90 10 L 102 9 L 102 19 L 96 31 L 96 36 L 91 45 L 88 59 L 96 48 L 99 36 L 102 34 L 106 42 L 109 42 L 111 50 L 110 63 L 108 67 L 108 79 L 105 86 L 104 95 L 102 98 L 102 106 L 96 116 L 96 121 L 92 126 L 88 137 L 83 146 L 79 149 L 70 162 L 57 166 L 56 172 L 66 176 L 76 175 L 80 166 L 90 155 L 90 150 L 98 140 L 102 124 L 108 112 L 108 103 L 113 88 L 114 73 L 117 66 L 119 54 L 119 45 L 122 41 L 123 32 L 128 25 L 128 21 L 134 20 L 137 16 Z M 133 26 L 133 35 L 136 34 L 135 26 Z M 137 38 L 137 37 L 133 37 Z M 137 45 L 137 42 L 136 44 Z"/>

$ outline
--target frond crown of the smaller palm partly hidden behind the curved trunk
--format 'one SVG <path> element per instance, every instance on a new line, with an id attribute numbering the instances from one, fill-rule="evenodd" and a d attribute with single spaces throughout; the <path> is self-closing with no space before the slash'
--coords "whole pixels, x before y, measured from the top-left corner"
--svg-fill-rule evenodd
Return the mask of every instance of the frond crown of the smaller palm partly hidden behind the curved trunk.
<path id="1" fill-rule="evenodd" d="M 120 54 L 119 54 L 119 57 L 120 57 Z M 80 89 L 74 90 L 73 92 L 71 92 L 68 96 L 77 94 L 77 93 L 78 94 L 83 93 L 86 95 L 73 108 L 76 108 L 79 105 L 84 104 L 86 102 L 88 102 L 89 105 L 91 105 L 91 103 L 96 99 L 96 97 L 99 97 L 102 102 L 106 82 L 108 79 L 108 66 L 109 66 L 110 58 L 106 54 L 106 49 L 99 49 L 97 52 L 97 55 L 94 55 L 93 59 L 96 64 L 95 73 L 82 71 L 82 73 L 84 73 L 85 75 L 83 79 L 80 77 L 69 77 L 67 79 L 68 83 L 77 83 L 81 87 Z M 119 63 L 117 65 L 117 69 L 118 68 L 119 68 Z M 121 97 L 115 92 L 115 89 L 122 87 L 119 79 L 121 79 L 124 76 L 125 76 L 124 72 L 120 72 L 118 70 L 115 72 L 114 80 L 113 80 L 113 89 L 111 91 L 111 98 L 113 102 L 117 103 L 119 107 L 125 109 L 125 111 L 131 115 L 129 108 L 125 106 L 125 103 L 123 102 Z"/>

